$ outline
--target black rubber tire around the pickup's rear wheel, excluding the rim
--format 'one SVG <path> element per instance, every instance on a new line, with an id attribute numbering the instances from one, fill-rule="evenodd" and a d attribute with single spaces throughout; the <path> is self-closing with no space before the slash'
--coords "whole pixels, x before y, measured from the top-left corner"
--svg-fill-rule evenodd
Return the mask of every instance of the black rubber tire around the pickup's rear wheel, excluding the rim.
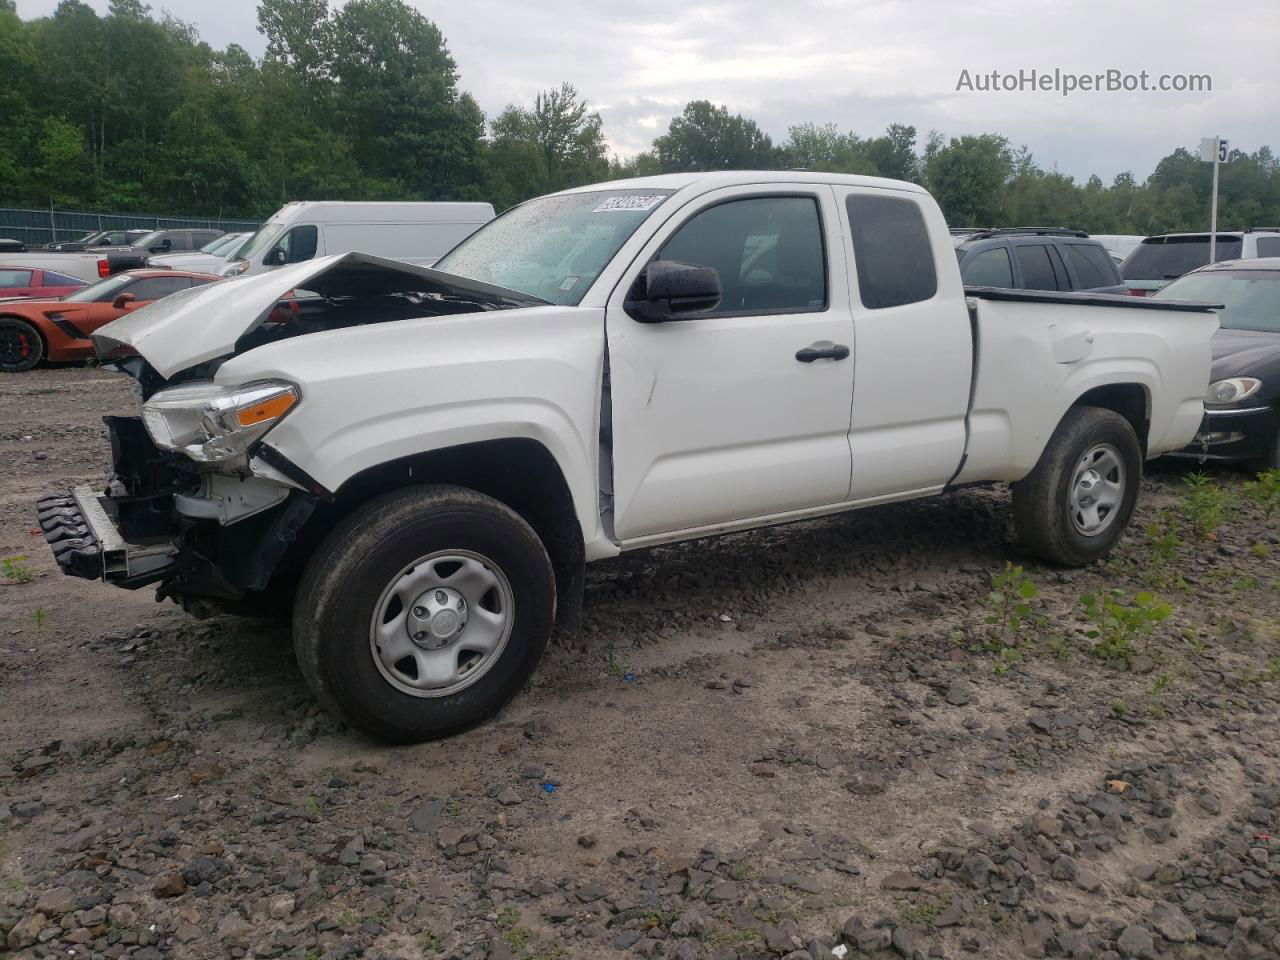
<path id="1" fill-rule="evenodd" d="M 1073 520 L 1070 495 L 1076 468 L 1087 454 L 1101 445 L 1119 454 L 1124 466 L 1123 490 L 1119 503 L 1103 517 L 1105 526 L 1087 535 Z M 1036 468 L 1012 485 L 1018 538 L 1043 561 L 1083 567 L 1106 556 L 1120 539 L 1133 516 L 1140 485 L 1142 445 L 1133 425 L 1110 410 L 1071 407 L 1050 438 Z"/>

